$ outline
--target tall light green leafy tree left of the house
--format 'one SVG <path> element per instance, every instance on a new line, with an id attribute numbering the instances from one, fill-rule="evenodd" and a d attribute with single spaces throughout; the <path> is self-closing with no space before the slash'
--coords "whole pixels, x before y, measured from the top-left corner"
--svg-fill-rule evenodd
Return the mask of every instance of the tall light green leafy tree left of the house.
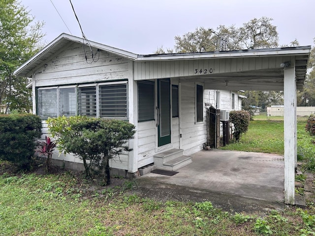
<path id="1" fill-rule="evenodd" d="M 30 81 L 13 72 L 37 52 L 43 25 L 18 0 L 0 0 L 0 104 L 7 105 L 6 111 L 31 108 Z"/>

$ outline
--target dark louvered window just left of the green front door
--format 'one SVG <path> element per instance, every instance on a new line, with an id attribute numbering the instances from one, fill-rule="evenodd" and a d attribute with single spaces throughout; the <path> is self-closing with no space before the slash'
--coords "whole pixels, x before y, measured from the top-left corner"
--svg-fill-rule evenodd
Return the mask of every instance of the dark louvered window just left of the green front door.
<path id="1" fill-rule="evenodd" d="M 154 119 L 154 82 L 138 81 L 138 121 Z"/>

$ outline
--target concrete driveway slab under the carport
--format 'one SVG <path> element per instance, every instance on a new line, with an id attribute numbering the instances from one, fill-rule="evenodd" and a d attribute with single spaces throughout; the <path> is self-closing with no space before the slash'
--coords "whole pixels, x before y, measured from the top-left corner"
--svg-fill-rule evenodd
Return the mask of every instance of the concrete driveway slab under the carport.
<path id="1" fill-rule="evenodd" d="M 201 150 L 193 154 L 191 164 L 177 172 L 174 176 L 149 173 L 139 177 L 142 196 L 212 201 L 234 211 L 284 207 L 282 155 Z"/>

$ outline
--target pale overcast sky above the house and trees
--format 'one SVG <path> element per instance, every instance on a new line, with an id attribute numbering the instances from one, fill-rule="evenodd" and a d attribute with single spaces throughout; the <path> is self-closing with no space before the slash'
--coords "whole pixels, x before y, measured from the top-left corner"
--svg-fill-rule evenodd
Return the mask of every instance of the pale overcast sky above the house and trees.
<path id="1" fill-rule="evenodd" d="M 315 0 L 71 0 L 85 36 L 135 54 L 173 48 L 174 37 L 197 27 L 243 26 L 270 17 L 279 44 L 314 45 Z M 44 44 L 61 33 L 82 36 L 69 0 L 21 0 L 35 21 L 45 22 Z M 58 12 L 56 11 L 55 7 Z M 64 25 L 65 22 L 66 26 Z M 68 29 L 70 30 L 68 30 Z"/>

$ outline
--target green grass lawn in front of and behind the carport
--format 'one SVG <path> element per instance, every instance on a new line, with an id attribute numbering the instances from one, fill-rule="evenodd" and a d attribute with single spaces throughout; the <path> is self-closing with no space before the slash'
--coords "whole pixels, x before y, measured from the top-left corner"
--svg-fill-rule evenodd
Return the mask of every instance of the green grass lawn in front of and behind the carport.
<path id="1" fill-rule="evenodd" d="M 300 158 L 314 145 L 299 120 Z M 241 142 L 226 149 L 283 153 L 283 121 L 254 120 Z M 315 156 L 315 155 L 314 155 Z M 314 161 L 315 163 L 315 161 Z M 299 176 L 304 181 L 303 176 Z M 136 181 L 95 188 L 94 180 L 65 171 L 8 174 L 0 167 L 0 235 L 3 236 L 300 236 L 315 235 L 315 207 L 269 214 L 224 212 L 210 202 L 159 202 L 133 193 Z"/>

